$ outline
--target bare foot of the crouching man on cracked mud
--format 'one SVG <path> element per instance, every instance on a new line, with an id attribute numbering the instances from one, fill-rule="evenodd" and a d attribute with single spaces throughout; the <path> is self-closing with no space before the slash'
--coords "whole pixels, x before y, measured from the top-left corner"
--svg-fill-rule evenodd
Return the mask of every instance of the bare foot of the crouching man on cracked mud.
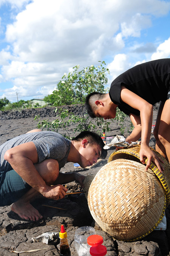
<path id="1" fill-rule="evenodd" d="M 25 220 L 40 220 L 43 216 L 30 203 L 20 203 L 16 201 L 12 204 L 11 210 Z"/>

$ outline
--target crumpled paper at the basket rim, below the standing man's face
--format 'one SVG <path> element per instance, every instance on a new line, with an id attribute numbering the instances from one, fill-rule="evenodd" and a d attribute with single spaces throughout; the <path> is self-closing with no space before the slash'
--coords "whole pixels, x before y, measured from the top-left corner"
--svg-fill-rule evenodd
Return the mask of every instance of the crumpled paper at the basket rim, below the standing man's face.
<path id="1" fill-rule="evenodd" d="M 137 144 L 137 142 L 131 142 L 131 144 L 129 144 L 122 135 L 116 135 L 114 139 L 109 144 L 106 144 L 103 148 L 109 149 L 112 146 L 129 148 L 135 144 Z"/>

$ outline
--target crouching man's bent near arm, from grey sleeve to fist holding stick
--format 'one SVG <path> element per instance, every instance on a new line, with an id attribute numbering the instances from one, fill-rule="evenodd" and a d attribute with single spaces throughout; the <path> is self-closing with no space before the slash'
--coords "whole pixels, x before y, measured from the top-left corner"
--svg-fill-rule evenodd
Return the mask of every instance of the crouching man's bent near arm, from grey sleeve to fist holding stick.
<path id="1" fill-rule="evenodd" d="M 4 158 L 12 168 L 35 190 L 43 196 L 59 199 L 67 189 L 63 186 L 50 187 L 36 170 L 34 163 L 38 163 L 38 154 L 35 144 L 23 143 L 5 152 Z M 63 197 L 63 196 L 62 196 Z"/>

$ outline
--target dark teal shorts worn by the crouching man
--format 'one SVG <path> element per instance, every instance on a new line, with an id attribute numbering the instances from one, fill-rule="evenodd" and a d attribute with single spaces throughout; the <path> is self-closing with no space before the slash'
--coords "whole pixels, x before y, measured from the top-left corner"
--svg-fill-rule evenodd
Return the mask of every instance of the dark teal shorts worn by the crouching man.
<path id="1" fill-rule="evenodd" d="M 0 172 L 0 206 L 14 203 L 30 188 L 14 170 Z"/>

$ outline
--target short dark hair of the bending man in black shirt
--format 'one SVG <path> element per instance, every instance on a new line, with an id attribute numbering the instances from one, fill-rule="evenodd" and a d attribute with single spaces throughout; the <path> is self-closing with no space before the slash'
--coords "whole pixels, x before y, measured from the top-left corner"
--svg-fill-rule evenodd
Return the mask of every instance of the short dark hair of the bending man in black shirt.
<path id="1" fill-rule="evenodd" d="M 96 99 L 101 99 L 105 94 L 104 93 L 97 93 L 94 91 L 93 93 L 90 93 L 87 95 L 86 100 L 85 100 L 85 108 L 87 110 L 88 115 L 91 118 L 95 118 L 96 116 L 94 115 L 94 109 L 95 109 L 95 102 L 90 102 L 91 99 L 95 101 Z"/>

